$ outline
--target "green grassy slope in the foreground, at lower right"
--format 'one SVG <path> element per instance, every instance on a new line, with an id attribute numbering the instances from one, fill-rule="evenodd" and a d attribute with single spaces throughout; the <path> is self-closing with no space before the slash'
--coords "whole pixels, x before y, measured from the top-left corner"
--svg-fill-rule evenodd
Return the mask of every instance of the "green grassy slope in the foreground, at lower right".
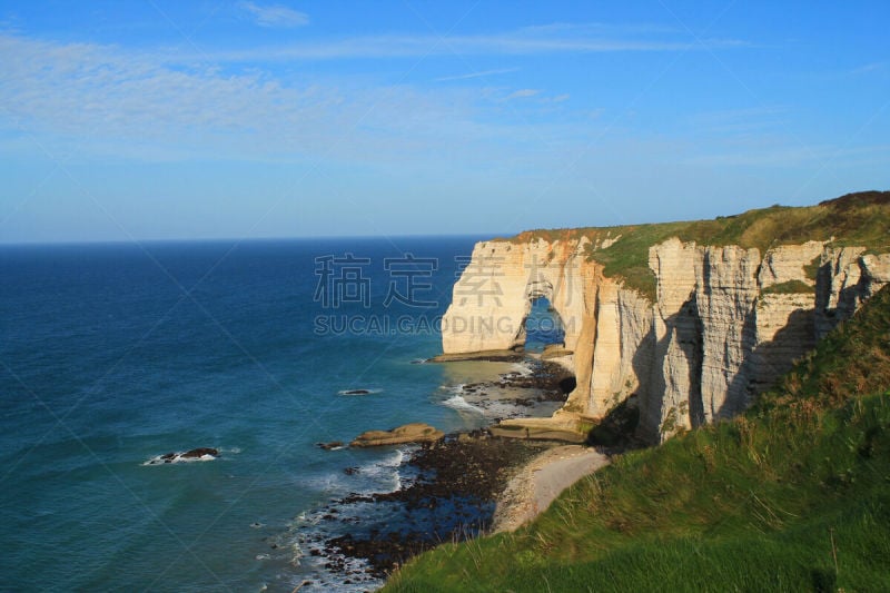
<path id="1" fill-rule="evenodd" d="M 890 290 L 746 414 L 627 453 L 385 591 L 890 591 Z"/>

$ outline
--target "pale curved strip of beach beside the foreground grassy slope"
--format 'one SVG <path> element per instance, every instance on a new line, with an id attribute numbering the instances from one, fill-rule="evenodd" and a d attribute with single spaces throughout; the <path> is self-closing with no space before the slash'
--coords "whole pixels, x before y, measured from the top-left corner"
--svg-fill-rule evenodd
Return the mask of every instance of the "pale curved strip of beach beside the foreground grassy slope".
<path id="1" fill-rule="evenodd" d="M 493 531 L 514 531 L 546 511 L 565 488 L 609 464 L 609 457 L 581 445 L 545 451 L 528 462 L 497 502 Z"/>

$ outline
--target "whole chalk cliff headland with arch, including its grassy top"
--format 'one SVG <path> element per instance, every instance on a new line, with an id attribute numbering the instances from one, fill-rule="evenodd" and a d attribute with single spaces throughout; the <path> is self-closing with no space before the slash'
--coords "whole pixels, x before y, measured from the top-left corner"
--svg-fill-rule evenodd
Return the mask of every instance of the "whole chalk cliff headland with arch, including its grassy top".
<path id="1" fill-rule="evenodd" d="M 639 435 L 660 442 L 746 408 L 888 283 L 887 191 L 715 220 L 528 231 L 476 244 L 443 350 L 516 349 L 545 297 L 577 386 L 552 418 L 502 429 L 577 432 L 635 396 Z"/>

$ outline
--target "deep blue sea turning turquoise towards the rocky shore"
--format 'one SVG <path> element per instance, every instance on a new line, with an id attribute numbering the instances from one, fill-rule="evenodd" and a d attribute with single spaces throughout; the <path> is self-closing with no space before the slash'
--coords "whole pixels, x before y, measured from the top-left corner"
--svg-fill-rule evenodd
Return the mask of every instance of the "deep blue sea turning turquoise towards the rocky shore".
<path id="1" fill-rule="evenodd" d="M 522 365 L 426 362 L 481 238 L 1 246 L 0 590 L 380 585 L 317 544 L 412 449 L 335 443 L 492 421 L 461 386 Z"/>

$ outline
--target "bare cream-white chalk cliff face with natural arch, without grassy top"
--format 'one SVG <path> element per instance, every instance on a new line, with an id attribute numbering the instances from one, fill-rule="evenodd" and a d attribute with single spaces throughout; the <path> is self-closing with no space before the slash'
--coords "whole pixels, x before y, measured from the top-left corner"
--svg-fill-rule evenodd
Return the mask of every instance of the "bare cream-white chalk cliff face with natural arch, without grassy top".
<path id="1" fill-rule="evenodd" d="M 659 442 L 732 416 L 883 285 L 890 254 L 809 241 L 770 248 L 671 238 L 649 250 L 655 297 L 604 275 L 615 238 L 476 245 L 443 323 L 446 354 L 507 349 L 546 297 L 565 327 L 577 387 L 554 422 L 601 417 L 636 394 Z"/>

